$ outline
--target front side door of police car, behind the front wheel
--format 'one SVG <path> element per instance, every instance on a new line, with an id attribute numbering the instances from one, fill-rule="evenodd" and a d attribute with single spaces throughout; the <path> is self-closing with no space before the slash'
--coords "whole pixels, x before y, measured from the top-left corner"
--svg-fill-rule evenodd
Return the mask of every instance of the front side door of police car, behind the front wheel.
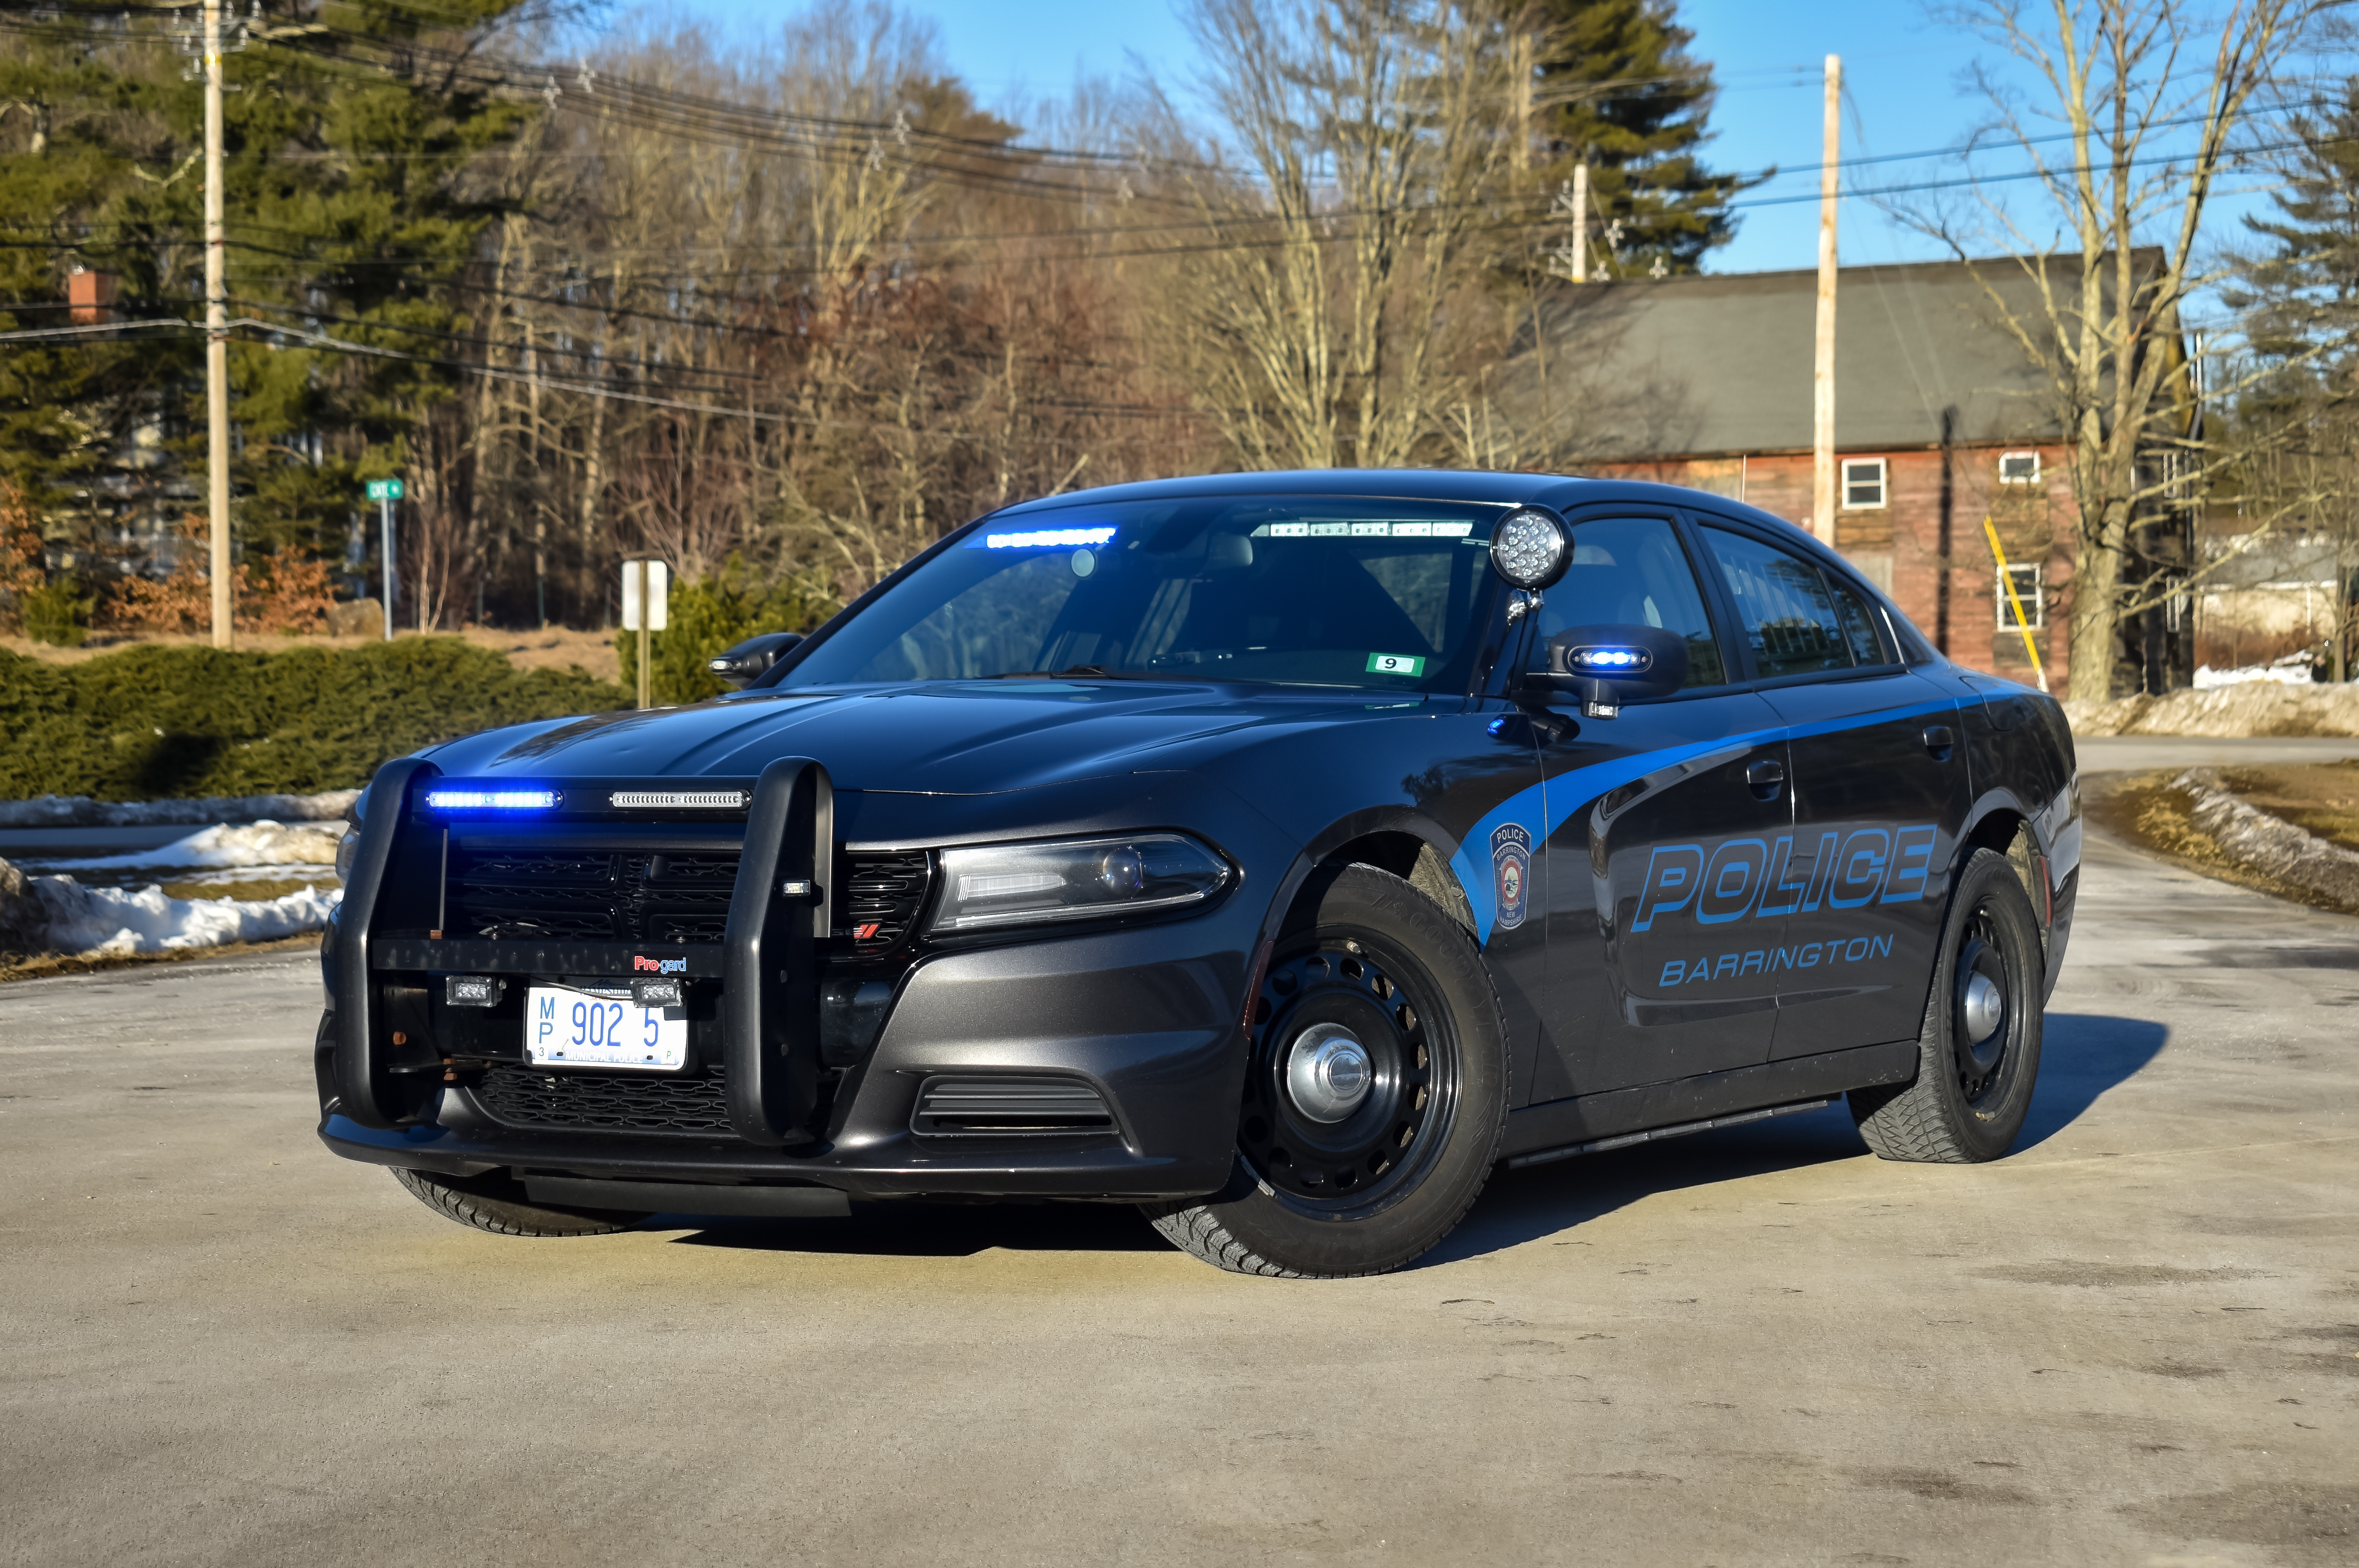
<path id="1" fill-rule="evenodd" d="M 1757 915 L 1793 832 L 1776 710 L 1739 691 L 1675 514 L 1576 512 L 1573 564 L 1522 651 L 1548 780 L 1550 1049 L 1533 1101 L 1767 1059 L 1769 960 L 1783 920 Z M 1573 627 L 1651 627 L 1687 644 L 1663 700 L 1597 717 L 1550 684 Z"/>

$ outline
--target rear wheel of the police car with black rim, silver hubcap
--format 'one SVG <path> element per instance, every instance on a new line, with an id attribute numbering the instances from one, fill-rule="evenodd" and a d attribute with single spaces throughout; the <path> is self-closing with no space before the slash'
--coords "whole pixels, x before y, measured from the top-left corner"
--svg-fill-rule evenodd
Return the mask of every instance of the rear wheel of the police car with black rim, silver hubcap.
<path id="1" fill-rule="evenodd" d="M 1974 1007 L 1977 981 L 1996 988 L 1996 1023 L 1989 990 Z M 2041 924 L 2024 882 L 2003 854 L 1977 849 L 1941 924 L 1916 1080 L 1849 1094 L 1868 1148 L 1882 1160 L 1937 1165 L 2008 1153 L 2041 1075 L 2045 995 Z"/>

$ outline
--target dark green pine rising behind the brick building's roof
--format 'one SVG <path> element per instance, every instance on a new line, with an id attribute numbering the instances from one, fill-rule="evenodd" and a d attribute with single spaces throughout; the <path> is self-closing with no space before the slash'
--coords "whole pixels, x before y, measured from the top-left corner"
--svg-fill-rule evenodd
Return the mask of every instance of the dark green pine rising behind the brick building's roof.
<path id="1" fill-rule="evenodd" d="M 1543 189 L 1590 165 L 1590 255 L 1606 276 L 1698 271 L 1736 231 L 1729 198 L 1755 182 L 1703 167 L 1715 90 L 1687 52 L 1694 31 L 1673 0 L 1538 0 L 1529 17 Z"/>

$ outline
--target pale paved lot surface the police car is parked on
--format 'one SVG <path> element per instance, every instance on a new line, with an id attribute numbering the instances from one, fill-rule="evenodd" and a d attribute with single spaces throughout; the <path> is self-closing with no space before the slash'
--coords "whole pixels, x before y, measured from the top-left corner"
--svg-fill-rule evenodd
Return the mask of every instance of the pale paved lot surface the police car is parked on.
<path id="1" fill-rule="evenodd" d="M 2121 849 L 2015 1158 L 1788 1118 L 1340 1285 L 1095 1207 L 477 1236 L 314 1141 L 316 1004 L 0 988 L 0 1561 L 2359 1559 L 2359 922 Z"/>

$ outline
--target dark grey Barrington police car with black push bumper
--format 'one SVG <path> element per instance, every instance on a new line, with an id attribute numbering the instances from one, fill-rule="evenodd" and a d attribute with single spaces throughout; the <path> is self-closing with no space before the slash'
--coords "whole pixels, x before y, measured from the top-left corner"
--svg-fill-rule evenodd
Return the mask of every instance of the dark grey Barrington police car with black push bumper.
<path id="1" fill-rule="evenodd" d="M 1128 1200 L 1356 1276 L 1500 1165 L 2024 1122 L 2059 707 L 1729 502 L 1229 474 L 937 542 L 691 707 L 389 762 L 321 1137 L 484 1231 Z"/>

